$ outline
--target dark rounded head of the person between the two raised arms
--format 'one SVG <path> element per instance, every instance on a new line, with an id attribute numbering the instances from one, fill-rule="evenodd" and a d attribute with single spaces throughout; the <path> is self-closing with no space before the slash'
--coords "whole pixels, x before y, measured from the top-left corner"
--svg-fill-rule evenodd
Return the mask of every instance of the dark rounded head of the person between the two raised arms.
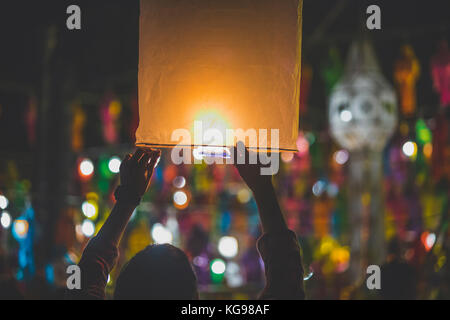
<path id="1" fill-rule="evenodd" d="M 170 244 L 150 245 L 122 268 L 114 299 L 194 300 L 197 279 L 182 250 Z"/>

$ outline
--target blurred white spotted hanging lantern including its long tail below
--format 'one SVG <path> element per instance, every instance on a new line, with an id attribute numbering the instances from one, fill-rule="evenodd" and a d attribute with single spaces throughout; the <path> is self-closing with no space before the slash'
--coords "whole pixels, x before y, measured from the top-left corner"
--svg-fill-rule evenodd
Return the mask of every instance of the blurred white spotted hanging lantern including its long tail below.
<path id="1" fill-rule="evenodd" d="M 385 259 L 381 160 L 397 123 L 394 90 L 367 40 L 350 48 L 345 74 L 330 96 L 328 119 L 331 135 L 350 151 L 350 277 L 358 283 L 365 272 L 363 261 L 381 264 Z"/>

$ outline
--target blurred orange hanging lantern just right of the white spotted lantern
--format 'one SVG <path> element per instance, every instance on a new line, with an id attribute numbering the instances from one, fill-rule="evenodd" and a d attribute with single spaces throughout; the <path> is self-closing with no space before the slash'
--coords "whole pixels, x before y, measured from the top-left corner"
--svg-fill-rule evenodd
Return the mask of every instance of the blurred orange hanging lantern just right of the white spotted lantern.
<path id="1" fill-rule="evenodd" d="M 403 46 L 401 57 L 395 63 L 394 79 L 405 116 L 412 116 L 416 111 L 416 82 L 419 75 L 420 65 L 414 50 L 411 46 Z"/>

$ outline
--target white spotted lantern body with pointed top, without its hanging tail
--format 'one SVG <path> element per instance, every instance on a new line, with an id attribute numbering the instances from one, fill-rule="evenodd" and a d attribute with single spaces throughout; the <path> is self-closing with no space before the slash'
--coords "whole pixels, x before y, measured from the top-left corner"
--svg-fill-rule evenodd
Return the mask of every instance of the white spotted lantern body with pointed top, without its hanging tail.
<path id="1" fill-rule="evenodd" d="M 397 107 L 368 41 L 353 43 L 346 72 L 334 87 L 328 117 L 332 136 L 344 148 L 382 150 L 394 132 Z"/>

